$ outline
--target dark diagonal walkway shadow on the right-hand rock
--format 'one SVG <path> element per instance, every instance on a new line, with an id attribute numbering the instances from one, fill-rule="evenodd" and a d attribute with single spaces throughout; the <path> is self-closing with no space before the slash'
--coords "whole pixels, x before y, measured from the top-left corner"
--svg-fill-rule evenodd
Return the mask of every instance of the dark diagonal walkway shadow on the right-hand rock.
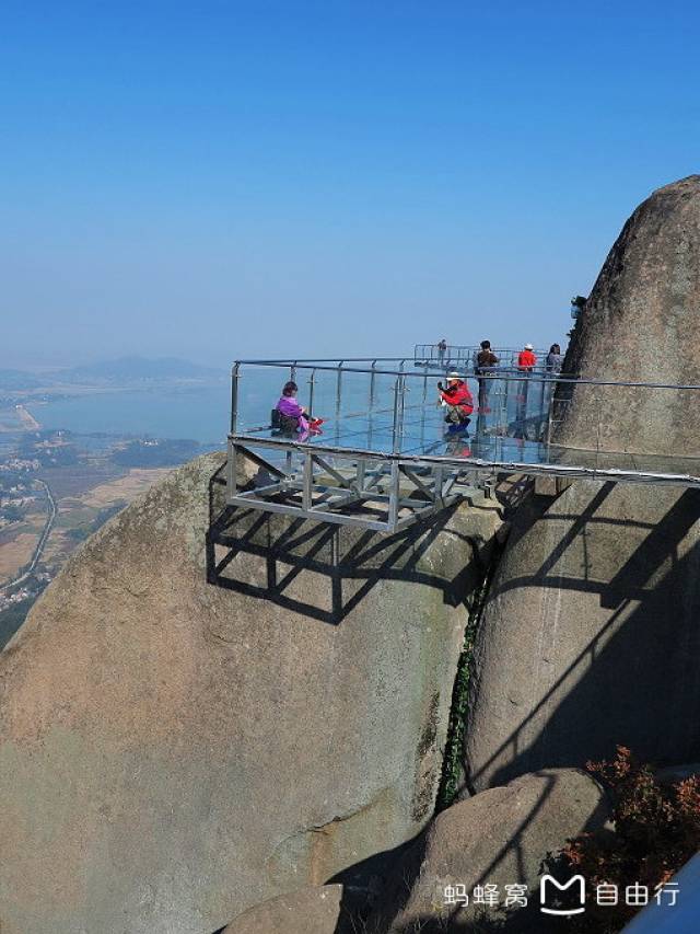
<path id="1" fill-rule="evenodd" d="M 509 736 L 470 772 L 478 785 L 481 776 L 499 760 L 506 764 L 489 780 L 500 785 L 538 768 L 545 757 L 548 766 L 576 766 L 586 758 L 605 757 L 615 745 L 631 746 L 642 754 L 670 745 L 661 741 L 662 731 L 682 737 L 690 759 L 700 756 L 700 676 L 692 673 L 700 657 L 700 588 L 693 581 L 700 572 L 697 543 L 680 543 L 700 518 L 700 493 L 687 489 L 678 495 L 660 522 L 599 517 L 596 512 L 615 485 L 604 484 L 581 515 L 565 517 L 552 512 L 537 521 L 573 519 L 556 549 L 533 574 L 497 581 L 491 599 L 523 588 L 555 588 L 597 593 L 599 606 L 611 612 L 593 638 L 559 673 L 537 704 Z M 558 567 L 562 555 L 576 539 L 595 524 L 635 527 L 648 534 L 619 570 L 609 579 L 594 579 L 587 550 L 582 550 L 579 576 L 564 576 Z M 526 529 L 525 529 L 526 531 Z M 523 529 L 515 532 L 509 549 L 516 546 Z M 684 599 L 681 599 L 681 595 Z M 684 602 L 685 601 L 685 602 Z M 482 635 L 483 637 L 483 635 Z M 684 661 L 682 659 L 686 659 Z M 678 685 L 685 671 L 686 684 Z M 562 696 L 562 688 L 571 688 Z M 688 708 L 681 722 L 670 722 L 670 695 L 679 691 Z M 547 713 L 549 707 L 551 713 Z M 596 714 L 606 712 L 606 729 L 599 729 Z M 634 714 L 634 716 L 632 716 Z M 524 738 L 536 720 L 542 726 L 534 740 Z M 586 720 L 587 716 L 587 720 Z M 616 727 L 615 740 L 606 738 Z M 658 742 L 650 737 L 658 737 Z M 572 737 L 576 737 L 573 742 Z M 546 752 L 545 752 L 546 750 Z M 584 753 L 581 750 L 586 750 Z"/>

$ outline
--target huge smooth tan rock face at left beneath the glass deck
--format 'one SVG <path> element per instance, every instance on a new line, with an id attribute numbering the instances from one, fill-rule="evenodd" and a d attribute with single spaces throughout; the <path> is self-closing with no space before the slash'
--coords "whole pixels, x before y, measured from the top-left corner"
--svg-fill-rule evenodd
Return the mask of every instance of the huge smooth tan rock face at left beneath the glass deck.
<path id="1" fill-rule="evenodd" d="M 221 463 L 89 540 L 0 656 L 3 934 L 211 932 L 430 818 L 495 510 L 222 515 Z"/>

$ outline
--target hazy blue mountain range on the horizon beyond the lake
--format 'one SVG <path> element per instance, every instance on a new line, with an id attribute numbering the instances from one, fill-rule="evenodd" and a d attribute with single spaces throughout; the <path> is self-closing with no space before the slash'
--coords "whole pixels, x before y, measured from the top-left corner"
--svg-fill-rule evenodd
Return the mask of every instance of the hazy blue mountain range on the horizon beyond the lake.
<path id="1" fill-rule="evenodd" d="M 32 390 L 52 383 L 132 383 L 142 380 L 212 380 L 225 376 L 225 370 L 203 367 L 177 357 L 118 357 L 50 373 L 0 369 L 0 392 Z"/>

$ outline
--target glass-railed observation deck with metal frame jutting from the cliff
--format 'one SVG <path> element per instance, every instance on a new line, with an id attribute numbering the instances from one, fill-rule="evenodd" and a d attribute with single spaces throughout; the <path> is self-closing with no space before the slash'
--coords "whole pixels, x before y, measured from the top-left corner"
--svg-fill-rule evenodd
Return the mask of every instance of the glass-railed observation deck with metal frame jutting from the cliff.
<path id="1" fill-rule="evenodd" d="M 476 376 L 470 356 L 244 360 L 233 368 L 228 501 L 325 521 L 394 530 L 455 501 L 504 472 L 700 486 L 697 450 L 635 450 L 626 426 L 610 445 L 606 413 L 622 394 L 635 405 L 697 408 L 700 387 L 579 380 L 509 361 Z M 472 350 L 474 348 L 468 348 Z M 445 423 L 438 381 L 458 370 L 474 413 L 467 430 Z M 323 418 L 319 434 L 273 427 L 282 385 Z M 585 393 L 585 429 L 565 443 L 568 415 Z M 614 404 L 614 403 L 617 404 Z M 649 450 L 649 448 L 646 448 Z M 250 488 L 234 482 L 236 460 L 257 466 Z"/>

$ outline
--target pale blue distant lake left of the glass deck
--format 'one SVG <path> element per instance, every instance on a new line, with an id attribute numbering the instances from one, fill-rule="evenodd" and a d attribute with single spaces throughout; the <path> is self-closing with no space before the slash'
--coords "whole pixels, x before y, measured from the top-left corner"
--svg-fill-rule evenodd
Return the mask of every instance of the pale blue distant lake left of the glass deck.
<path id="1" fill-rule="evenodd" d="M 60 399 L 26 406 L 43 428 L 75 434 L 190 438 L 224 446 L 231 390 L 224 381 L 207 387 L 128 390 Z"/>

